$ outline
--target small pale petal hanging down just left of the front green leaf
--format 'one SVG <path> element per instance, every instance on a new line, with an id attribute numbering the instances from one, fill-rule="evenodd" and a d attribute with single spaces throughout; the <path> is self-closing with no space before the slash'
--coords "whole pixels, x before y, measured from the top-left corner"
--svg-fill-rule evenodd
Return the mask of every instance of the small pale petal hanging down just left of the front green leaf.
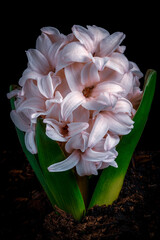
<path id="1" fill-rule="evenodd" d="M 26 148 L 29 152 L 31 152 L 32 154 L 36 154 L 37 153 L 37 146 L 35 143 L 35 132 L 34 131 L 27 131 L 25 133 L 25 145 Z"/>

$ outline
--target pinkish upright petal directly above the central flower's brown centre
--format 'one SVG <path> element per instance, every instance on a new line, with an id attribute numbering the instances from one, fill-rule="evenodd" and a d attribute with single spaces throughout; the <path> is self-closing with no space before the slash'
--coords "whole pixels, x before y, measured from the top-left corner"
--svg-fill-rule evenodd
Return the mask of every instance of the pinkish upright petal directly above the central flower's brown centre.
<path id="1" fill-rule="evenodd" d="M 84 65 L 81 71 L 81 83 L 85 87 L 94 86 L 100 81 L 98 69 L 95 64 L 88 62 Z"/>

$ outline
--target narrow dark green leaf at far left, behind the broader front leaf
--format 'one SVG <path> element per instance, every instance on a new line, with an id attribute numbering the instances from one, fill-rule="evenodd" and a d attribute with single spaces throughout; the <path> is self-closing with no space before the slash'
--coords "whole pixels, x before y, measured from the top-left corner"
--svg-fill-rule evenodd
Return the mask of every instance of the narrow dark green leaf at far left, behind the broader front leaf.
<path id="1" fill-rule="evenodd" d="M 12 91 L 14 89 L 14 86 L 10 86 L 10 91 Z M 15 109 L 15 106 L 14 106 L 14 98 L 11 98 L 10 102 L 11 102 L 11 108 L 12 110 Z M 38 159 L 37 159 L 37 156 L 36 155 L 33 155 L 31 154 L 27 148 L 26 148 L 26 145 L 25 145 L 25 142 L 24 142 L 24 132 L 22 132 L 21 130 L 19 130 L 17 127 L 16 128 L 16 132 L 17 132 L 17 135 L 18 135 L 18 139 L 20 141 L 20 144 L 22 146 L 22 149 L 23 149 L 23 152 L 25 153 L 33 171 L 35 172 L 35 175 L 36 177 L 38 178 L 39 182 L 41 183 L 42 187 L 44 188 L 49 200 L 51 201 L 52 205 L 55 205 L 55 200 L 53 198 L 53 195 L 51 194 L 47 184 L 46 184 L 46 181 L 45 181 L 45 178 L 44 178 L 44 175 L 42 173 L 42 170 L 41 170 L 41 167 L 38 163 Z"/>

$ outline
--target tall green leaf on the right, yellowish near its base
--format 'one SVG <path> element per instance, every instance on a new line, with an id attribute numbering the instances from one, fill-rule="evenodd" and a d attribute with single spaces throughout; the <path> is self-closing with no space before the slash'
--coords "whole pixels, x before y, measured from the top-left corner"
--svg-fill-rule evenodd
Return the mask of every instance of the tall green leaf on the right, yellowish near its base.
<path id="1" fill-rule="evenodd" d="M 109 167 L 103 170 L 93 193 L 89 208 L 94 205 L 110 205 L 118 198 L 131 157 L 148 119 L 155 86 L 156 72 L 154 70 L 148 70 L 146 73 L 143 98 L 133 119 L 135 122 L 134 128 L 128 135 L 122 137 L 117 146 L 118 157 L 116 162 L 118 163 L 118 168 Z"/>

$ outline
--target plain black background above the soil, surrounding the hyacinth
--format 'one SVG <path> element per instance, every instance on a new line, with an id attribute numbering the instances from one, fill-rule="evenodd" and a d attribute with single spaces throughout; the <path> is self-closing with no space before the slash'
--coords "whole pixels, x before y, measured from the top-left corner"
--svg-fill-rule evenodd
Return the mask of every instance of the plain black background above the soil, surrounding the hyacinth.
<path id="1" fill-rule="evenodd" d="M 35 47 L 40 29 L 53 26 L 64 34 L 71 33 L 74 24 L 82 26 L 97 25 L 110 33 L 121 31 L 126 34 L 123 44 L 125 55 L 137 63 L 145 74 L 147 69 L 157 71 L 157 86 L 152 109 L 143 136 L 138 144 L 140 150 L 160 149 L 160 84 L 159 84 L 159 45 L 160 27 L 158 6 L 152 3 L 145 5 L 130 1 L 127 4 L 112 6 L 107 2 L 60 3 L 42 2 L 32 5 L 28 2 L 21 5 L 4 6 L 1 19 L 1 138 L 3 149 L 17 146 L 14 125 L 10 120 L 10 104 L 6 98 L 10 84 L 17 84 L 27 66 L 25 51 Z M 3 12 L 3 11 L 2 11 Z M 61 22 L 61 23 L 57 23 Z M 71 23 L 67 23 L 71 22 Z M 143 80 L 142 80 L 143 81 Z"/>

